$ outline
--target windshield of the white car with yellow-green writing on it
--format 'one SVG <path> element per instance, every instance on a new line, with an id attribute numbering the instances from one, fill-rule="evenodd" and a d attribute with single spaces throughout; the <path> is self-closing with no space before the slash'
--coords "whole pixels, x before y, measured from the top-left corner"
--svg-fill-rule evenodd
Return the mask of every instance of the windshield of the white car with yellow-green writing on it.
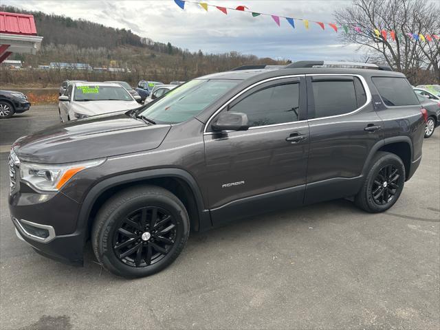
<path id="1" fill-rule="evenodd" d="M 76 86 L 75 101 L 132 101 L 130 94 L 119 86 Z"/>

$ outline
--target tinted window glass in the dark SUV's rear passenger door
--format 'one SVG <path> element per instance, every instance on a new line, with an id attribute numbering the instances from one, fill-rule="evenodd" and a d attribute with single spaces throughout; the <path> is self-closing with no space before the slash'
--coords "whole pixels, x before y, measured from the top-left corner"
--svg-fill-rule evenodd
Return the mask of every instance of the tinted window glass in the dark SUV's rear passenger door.
<path id="1" fill-rule="evenodd" d="M 311 84 L 315 102 L 314 118 L 350 113 L 366 102 L 365 90 L 358 78 L 318 78 L 312 80 Z"/>

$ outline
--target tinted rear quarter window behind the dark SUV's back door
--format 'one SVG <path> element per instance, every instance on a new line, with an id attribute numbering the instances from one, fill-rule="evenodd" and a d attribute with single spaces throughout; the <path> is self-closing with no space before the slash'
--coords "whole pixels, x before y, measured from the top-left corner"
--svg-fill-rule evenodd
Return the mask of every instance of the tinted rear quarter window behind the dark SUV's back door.
<path id="1" fill-rule="evenodd" d="M 406 78 L 373 77 L 372 80 L 386 106 L 420 104 Z"/>

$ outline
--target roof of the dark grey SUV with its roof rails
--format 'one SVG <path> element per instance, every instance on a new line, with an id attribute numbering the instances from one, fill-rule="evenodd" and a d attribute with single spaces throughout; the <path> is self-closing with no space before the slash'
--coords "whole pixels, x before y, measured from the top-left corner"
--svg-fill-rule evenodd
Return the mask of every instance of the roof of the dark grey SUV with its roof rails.
<path id="1" fill-rule="evenodd" d="M 391 76 L 404 78 L 400 72 L 385 71 L 378 69 L 347 69 L 340 67 L 306 67 L 306 68 L 284 68 L 274 67 L 269 69 L 248 69 L 219 72 L 208 74 L 197 79 L 228 79 L 247 80 L 250 78 L 272 78 L 276 76 L 300 75 L 300 74 L 358 74 L 360 76 Z"/>

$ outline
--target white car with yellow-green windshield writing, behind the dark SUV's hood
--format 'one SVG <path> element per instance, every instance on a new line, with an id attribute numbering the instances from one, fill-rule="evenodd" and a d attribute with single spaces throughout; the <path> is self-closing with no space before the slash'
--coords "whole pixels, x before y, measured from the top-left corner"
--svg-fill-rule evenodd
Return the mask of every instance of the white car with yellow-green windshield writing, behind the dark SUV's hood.
<path id="1" fill-rule="evenodd" d="M 58 100 L 61 122 L 139 107 L 124 87 L 113 83 L 70 84 Z"/>

